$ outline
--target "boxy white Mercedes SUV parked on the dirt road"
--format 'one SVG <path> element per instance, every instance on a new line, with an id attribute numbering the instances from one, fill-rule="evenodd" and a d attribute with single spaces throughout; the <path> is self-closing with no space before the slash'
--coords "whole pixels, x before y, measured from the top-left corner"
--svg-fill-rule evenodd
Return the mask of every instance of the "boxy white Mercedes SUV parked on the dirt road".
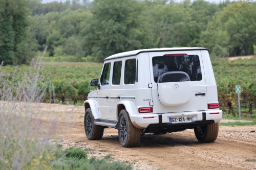
<path id="1" fill-rule="evenodd" d="M 208 49 L 155 48 L 104 60 L 98 89 L 84 101 L 89 140 L 104 128 L 118 129 L 123 147 L 134 147 L 145 133 L 193 129 L 200 142 L 213 142 L 219 131 L 217 85 Z"/>

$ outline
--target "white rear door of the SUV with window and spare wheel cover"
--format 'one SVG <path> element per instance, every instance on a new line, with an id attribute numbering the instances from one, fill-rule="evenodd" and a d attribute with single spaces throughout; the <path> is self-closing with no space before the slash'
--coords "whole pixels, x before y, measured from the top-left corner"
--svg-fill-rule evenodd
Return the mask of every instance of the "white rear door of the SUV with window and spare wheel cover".
<path id="1" fill-rule="evenodd" d="M 200 51 L 153 52 L 149 58 L 154 113 L 207 110 Z"/>

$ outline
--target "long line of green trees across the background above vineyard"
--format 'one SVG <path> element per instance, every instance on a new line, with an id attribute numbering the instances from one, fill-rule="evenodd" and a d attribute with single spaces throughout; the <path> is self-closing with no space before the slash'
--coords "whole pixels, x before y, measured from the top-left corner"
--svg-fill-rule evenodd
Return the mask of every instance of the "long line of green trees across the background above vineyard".
<path id="1" fill-rule="evenodd" d="M 256 44 L 256 3 L 250 1 L 0 4 L 0 60 L 5 64 L 26 64 L 46 46 L 48 56 L 102 61 L 125 51 L 180 46 L 209 48 L 211 57 L 241 56 L 253 54 Z"/>

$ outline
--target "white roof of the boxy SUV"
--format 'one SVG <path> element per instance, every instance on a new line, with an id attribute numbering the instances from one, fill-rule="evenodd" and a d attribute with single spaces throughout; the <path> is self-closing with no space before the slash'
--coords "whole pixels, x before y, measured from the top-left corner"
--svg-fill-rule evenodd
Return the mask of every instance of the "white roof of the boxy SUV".
<path id="1" fill-rule="evenodd" d="M 130 51 L 130 52 L 118 53 L 118 54 L 115 54 L 115 55 L 105 58 L 105 60 L 111 60 L 111 59 L 120 58 L 120 57 L 135 56 L 139 53 L 147 53 L 147 52 L 191 51 L 191 50 L 207 50 L 207 51 L 209 51 L 207 48 L 202 48 L 202 47 L 151 48 L 151 49 L 142 49 L 142 50 L 134 50 L 134 51 Z"/>

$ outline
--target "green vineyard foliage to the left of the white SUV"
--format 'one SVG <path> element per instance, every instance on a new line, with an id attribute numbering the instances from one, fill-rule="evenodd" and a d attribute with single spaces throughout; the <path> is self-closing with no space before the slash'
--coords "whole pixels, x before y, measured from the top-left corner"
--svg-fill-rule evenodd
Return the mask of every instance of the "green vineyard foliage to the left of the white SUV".
<path id="1" fill-rule="evenodd" d="M 95 78 L 99 78 L 102 64 L 98 63 L 80 63 L 79 65 L 63 64 L 63 65 L 45 65 L 40 66 L 38 74 L 42 74 L 42 81 L 47 81 L 47 85 L 44 83 L 38 84 L 38 86 L 47 86 L 47 93 L 42 99 L 47 103 L 70 103 L 76 104 L 79 100 L 83 102 L 87 98 L 87 94 L 90 90 L 94 90 L 90 85 L 90 81 Z M 3 66 L 3 77 L 0 77 L 0 81 L 14 79 L 17 82 L 24 82 L 24 78 L 27 76 L 26 72 L 31 72 L 33 66 Z M 25 74 L 17 74 L 17 72 Z M 12 77 L 14 76 L 14 77 Z M 32 77 L 33 75 L 28 75 Z M 3 90 L 4 84 L 0 84 L 0 92 Z M 11 81 L 6 81 L 6 86 L 13 87 L 12 93 L 16 94 L 15 89 L 18 85 L 13 84 Z"/>

